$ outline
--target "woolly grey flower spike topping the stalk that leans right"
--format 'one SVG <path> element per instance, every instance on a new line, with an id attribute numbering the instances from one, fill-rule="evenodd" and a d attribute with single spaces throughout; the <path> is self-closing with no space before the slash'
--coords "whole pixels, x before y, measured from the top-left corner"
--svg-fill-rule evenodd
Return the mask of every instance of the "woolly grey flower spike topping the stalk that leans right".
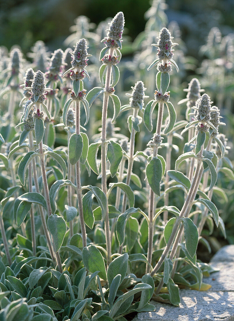
<path id="1" fill-rule="evenodd" d="M 193 107 L 193 109 L 196 109 L 196 120 L 199 121 L 199 123 L 196 126 L 196 129 L 201 132 L 207 132 L 209 130 L 209 125 L 207 122 L 210 121 L 210 111 L 211 111 L 211 103 L 210 97 L 207 94 L 203 94 L 202 97 L 197 100 L 196 107 Z"/>

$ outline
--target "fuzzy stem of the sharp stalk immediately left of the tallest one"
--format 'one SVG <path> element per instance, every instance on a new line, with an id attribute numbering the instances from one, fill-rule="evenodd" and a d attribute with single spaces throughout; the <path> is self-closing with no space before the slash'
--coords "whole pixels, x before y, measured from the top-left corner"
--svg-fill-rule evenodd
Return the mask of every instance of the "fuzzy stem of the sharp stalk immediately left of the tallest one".
<path id="1" fill-rule="evenodd" d="M 80 133 L 80 101 L 75 100 L 76 106 L 76 134 Z M 77 187 L 77 200 L 78 200 L 78 207 L 79 207 L 79 220 L 80 220 L 80 227 L 81 227 L 81 234 L 82 234 L 82 242 L 83 247 L 87 246 L 87 236 L 86 236 L 86 229 L 85 229 L 85 221 L 84 221 L 84 214 L 83 214 L 83 203 L 82 203 L 82 193 L 81 193 L 81 180 L 80 180 L 80 161 L 75 165 L 76 167 L 76 187 Z"/>

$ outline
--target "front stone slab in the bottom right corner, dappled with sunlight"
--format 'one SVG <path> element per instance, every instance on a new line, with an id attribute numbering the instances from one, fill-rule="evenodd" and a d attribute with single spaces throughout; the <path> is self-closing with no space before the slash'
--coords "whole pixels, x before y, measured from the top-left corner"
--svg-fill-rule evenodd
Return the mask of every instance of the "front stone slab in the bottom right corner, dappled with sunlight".
<path id="1" fill-rule="evenodd" d="M 180 306 L 151 301 L 153 312 L 138 313 L 135 321 L 234 321 L 234 292 L 180 290 Z"/>

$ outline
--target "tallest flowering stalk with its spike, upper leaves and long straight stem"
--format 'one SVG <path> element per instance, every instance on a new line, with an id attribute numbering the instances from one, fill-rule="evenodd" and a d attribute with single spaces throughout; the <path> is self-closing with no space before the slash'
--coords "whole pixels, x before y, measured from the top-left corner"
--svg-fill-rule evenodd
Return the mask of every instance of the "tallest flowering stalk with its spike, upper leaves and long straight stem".
<path id="1" fill-rule="evenodd" d="M 100 53 L 100 60 L 103 65 L 99 69 L 100 81 L 104 84 L 104 88 L 95 87 L 89 91 L 87 100 L 91 105 L 92 102 L 104 93 L 103 107 L 102 107 L 102 137 L 101 137 L 101 176 L 102 176 L 102 191 L 107 195 L 106 186 L 106 152 L 107 152 L 107 141 L 106 141 L 106 119 L 107 119 L 107 108 L 109 97 L 113 100 L 114 104 L 114 116 L 112 121 L 118 116 L 120 112 L 120 100 L 114 95 L 114 86 L 119 80 L 119 68 L 116 66 L 121 59 L 121 52 L 119 49 L 122 48 L 121 38 L 124 27 L 124 16 L 122 12 L 115 15 L 112 22 L 109 24 L 107 30 L 107 37 L 102 41 L 105 44 L 105 48 Z M 105 80 L 104 80 L 105 79 Z M 121 157 L 122 158 L 122 157 Z M 108 206 L 106 205 L 105 215 L 105 237 L 106 237 L 106 249 L 107 249 L 107 265 L 111 262 L 111 231 L 109 223 Z"/>

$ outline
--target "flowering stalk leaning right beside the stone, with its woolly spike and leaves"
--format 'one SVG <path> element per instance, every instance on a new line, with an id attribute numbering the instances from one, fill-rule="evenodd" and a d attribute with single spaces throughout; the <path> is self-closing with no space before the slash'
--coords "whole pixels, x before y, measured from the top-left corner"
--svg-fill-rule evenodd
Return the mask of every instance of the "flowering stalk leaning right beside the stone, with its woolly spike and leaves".
<path id="1" fill-rule="evenodd" d="M 201 181 L 201 177 L 203 173 L 203 161 L 207 163 L 212 173 L 210 189 L 214 186 L 217 180 L 217 173 L 215 172 L 215 170 L 213 171 L 214 169 L 213 163 L 208 158 L 203 157 L 204 143 L 206 141 L 206 137 L 209 138 L 210 136 L 209 134 L 210 126 L 212 126 L 212 128 L 214 128 L 215 130 L 215 127 L 210 122 L 210 110 L 211 110 L 210 97 L 207 94 L 203 94 L 202 97 L 197 101 L 196 108 L 197 108 L 196 121 L 192 121 L 187 125 L 187 127 L 196 125 L 197 134 L 195 136 L 195 139 L 196 139 L 195 153 L 187 152 L 182 154 L 176 161 L 176 168 L 175 168 L 176 170 L 178 169 L 178 166 L 181 161 L 193 157 L 196 159 L 196 162 L 197 162 L 196 169 L 194 172 L 193 180 L 191 182 L 191 186 L 188 190 L 188 195 L 186 197 L 185 203 L 180 211 L 179 216 L 175 220 L 175 223 L 171 232 L 171 236 L 167 242 L 167 245 L 164 248 L 161 258 L 159 259 L 153 271 L 151 272 L 151 275 L 154 275 L 154 273 L 158 271 L 158 269 L 163 264 L 170 250 L 171 250 L 171 253 L 170 253 L 169 259 L 171 260 L 173 259 L 182 236 L 183 227 L 185 229 L 193 230 L 194 240 L 193 240 L 193 246 L 189 248 L 189 254 L 191 257 L 195 255 L 196 246 L 198 242 L 198 231 L 194 223 L 191 221 L 191 219 L 188 218 L 188 215 L 190 213 L 191 207 L 196 197 L 199 183 Z M 187 239 L 186 239 L 186 243 L 187 243 Z M 162 286 L 163 286 L 163 280 L 160 282 L 157 288 L 157 291 L 156 291 L 157 293 L 159 293 Z"/>

